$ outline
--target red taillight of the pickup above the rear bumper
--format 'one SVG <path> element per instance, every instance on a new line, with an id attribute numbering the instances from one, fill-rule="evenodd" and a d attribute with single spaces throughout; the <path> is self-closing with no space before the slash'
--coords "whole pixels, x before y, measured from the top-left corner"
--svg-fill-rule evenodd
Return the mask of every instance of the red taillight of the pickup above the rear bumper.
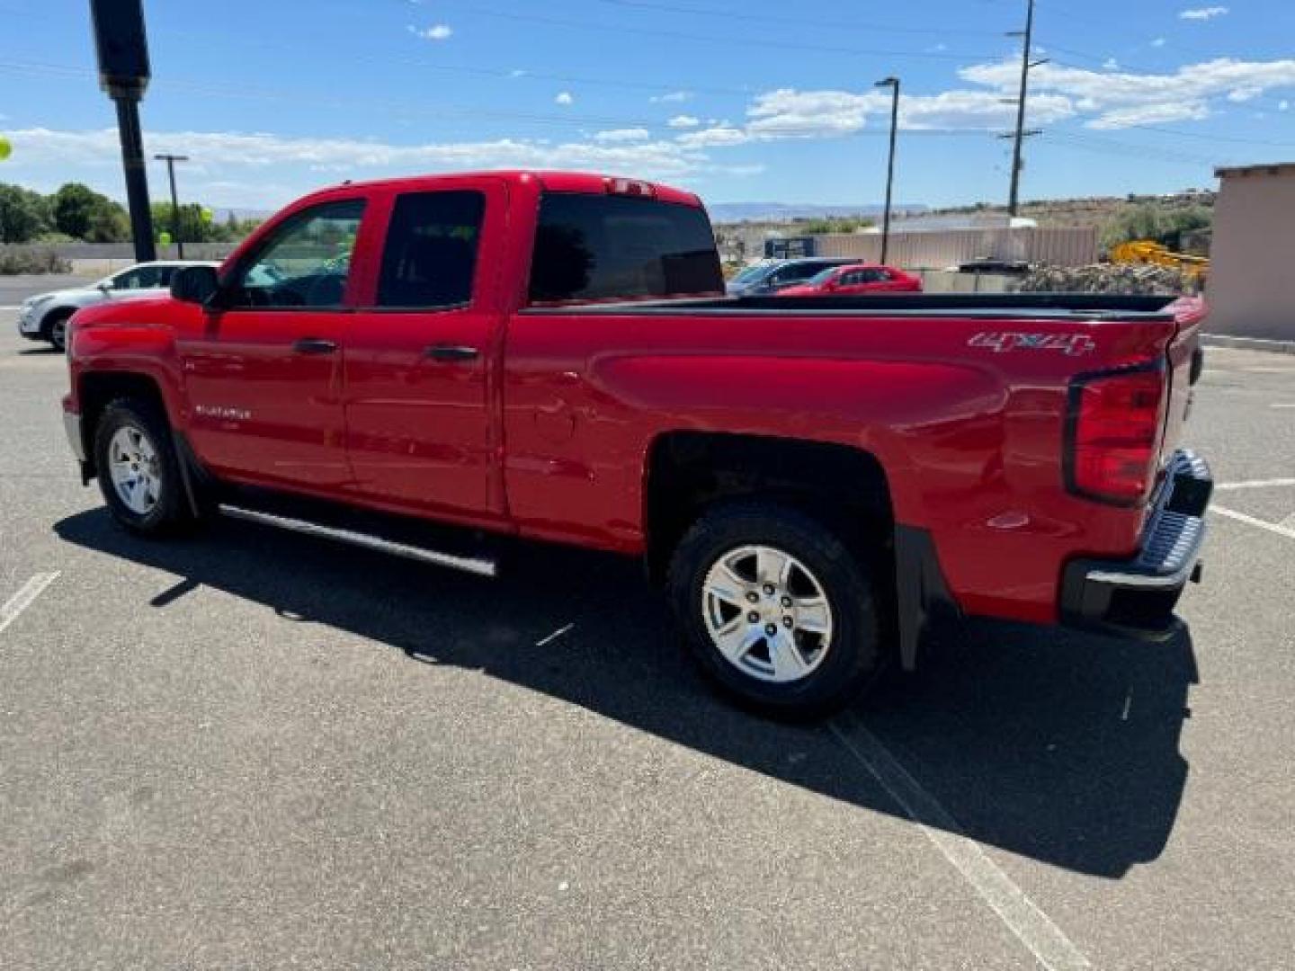
<path id="1" fill-rule="evenodd" d="M 1164 426 L 1162 368 L 1080 378 L 1070 394 L 1068 486 L 1109 502 L 1145 498 Z"/>

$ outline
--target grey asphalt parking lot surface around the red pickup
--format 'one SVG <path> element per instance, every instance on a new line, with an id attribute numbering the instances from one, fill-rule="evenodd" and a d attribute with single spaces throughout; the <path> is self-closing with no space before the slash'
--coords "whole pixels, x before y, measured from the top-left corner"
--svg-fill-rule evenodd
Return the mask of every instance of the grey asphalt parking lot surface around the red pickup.
<path id="1" fill-rule="evenodd" d="M 978 623 L 793 728 L 707 691 L 633 563 L 123 535 L 14 316 L 6 968 L 1290 967 L 1295 357 L 1208 351 L 1189 631 Z"/>

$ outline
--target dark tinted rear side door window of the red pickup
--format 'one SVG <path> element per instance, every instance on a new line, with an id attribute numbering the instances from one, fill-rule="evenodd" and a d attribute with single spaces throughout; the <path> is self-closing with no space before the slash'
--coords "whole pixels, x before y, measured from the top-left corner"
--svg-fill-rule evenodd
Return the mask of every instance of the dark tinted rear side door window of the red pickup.
<path id="1" fill-rule="evenodd" d="M 475 190 L 396 197 L 382 251 L 379 307 L 461 307 L 473 299 L 486 197 Z"/>

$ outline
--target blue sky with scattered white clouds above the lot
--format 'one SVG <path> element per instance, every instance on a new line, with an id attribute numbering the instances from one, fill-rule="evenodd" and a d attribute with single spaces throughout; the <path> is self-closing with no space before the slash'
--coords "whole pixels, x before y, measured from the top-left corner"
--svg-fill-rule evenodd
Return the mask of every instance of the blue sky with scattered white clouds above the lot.
<path id="1" fill-rule="evenodd" d="M 145 0 L 146 150 L 272 208 L 342 179 L 610 171 L 712 202 L 1002 201 L 1024 0 Z M 120 197 L 85 0 L 0 0 L 0 180 Z M 1295 159 L 1295 4 L 1039 0 L 1023 195 L 1212 185 Z M 161 197 L 164 177 L 150 171 Z"/>

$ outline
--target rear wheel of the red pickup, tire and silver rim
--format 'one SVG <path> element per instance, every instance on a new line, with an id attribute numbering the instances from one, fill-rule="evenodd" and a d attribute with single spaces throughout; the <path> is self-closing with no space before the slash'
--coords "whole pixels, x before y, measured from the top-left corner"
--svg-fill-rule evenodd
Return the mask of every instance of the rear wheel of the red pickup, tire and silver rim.
<path id="1" fill-rule="evenodd" d="M 670 598 L 702 671 L 761 712 L 826 715 L 882 669 L 868 563 L 799 509 L 706 513 L 675 550 Z"/>

